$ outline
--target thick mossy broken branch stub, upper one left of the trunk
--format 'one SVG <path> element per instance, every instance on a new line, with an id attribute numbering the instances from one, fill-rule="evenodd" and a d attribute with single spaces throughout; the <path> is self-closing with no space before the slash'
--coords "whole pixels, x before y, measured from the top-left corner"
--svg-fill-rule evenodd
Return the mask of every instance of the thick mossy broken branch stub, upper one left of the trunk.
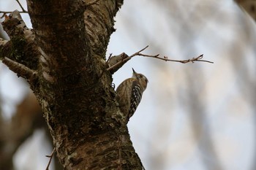
<path id="1" fill-rule="evenodd" d="M 7 57 L 29 69 L 37 70 L 39 48 L 34 41 L 34 31 L 26 27 L 20 12 L 15 10 L 1 24 L 10 41 L 0 39 L 0 60 Z"/>

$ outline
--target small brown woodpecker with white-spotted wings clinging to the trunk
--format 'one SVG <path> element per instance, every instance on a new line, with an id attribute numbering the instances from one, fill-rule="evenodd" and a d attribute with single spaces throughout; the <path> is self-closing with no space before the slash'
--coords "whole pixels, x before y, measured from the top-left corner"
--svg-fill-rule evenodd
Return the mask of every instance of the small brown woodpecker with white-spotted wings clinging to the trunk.
<path id="1" fill-rule="evenodd" d="M 127 123 L 140 104 L 142 94 L 148 85 L 148 79 L 143 74 L 135 72 L 134 69 L 132 72 L 132 77 L 121 82 L 116 88 L 116 99 Z"/>

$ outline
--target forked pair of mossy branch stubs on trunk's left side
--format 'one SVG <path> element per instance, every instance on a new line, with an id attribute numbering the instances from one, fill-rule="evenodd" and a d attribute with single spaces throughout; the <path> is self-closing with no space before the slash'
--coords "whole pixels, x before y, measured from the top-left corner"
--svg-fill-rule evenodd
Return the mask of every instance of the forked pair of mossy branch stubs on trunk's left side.
<path id="1" fill-rule="evenodd" d="M 0 39 L 2 63 L 7 65 L 18 77 L 26 79 L 30 85 L 36 85 L 37 58 L 40 53 L 34 42 L 33 31 L 26 27 L 18 10 L 12 12 L 1 24 L 10 36 L 10 41 Z"/>

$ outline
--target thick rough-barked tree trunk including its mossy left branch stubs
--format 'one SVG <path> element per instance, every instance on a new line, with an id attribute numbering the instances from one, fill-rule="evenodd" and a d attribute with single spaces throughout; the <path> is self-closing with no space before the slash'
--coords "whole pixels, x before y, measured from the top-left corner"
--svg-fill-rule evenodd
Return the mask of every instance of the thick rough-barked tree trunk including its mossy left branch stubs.
<path id="1" fill-rule="evenodd" d="M 29 82 L 64 169 L 143 169 L 105 63 L 123 1 L 27 2 L 33 30 L 13 12 L 0 59 Z"/>

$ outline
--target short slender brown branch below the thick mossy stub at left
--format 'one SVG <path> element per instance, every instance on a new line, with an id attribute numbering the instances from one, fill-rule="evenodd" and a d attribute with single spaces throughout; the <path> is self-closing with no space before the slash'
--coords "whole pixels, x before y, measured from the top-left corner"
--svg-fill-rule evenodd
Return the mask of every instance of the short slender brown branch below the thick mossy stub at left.
<path id="1" fill-rule="evenodd" d="M 26 67 L 21 63 L 12 61 L 10 58 L 4 57 L 2 62 L 7 65 L 12 72 L 15 72 L 18 77 L 23 77 L 24 79 L 29 80 L 29 82 L 34 80 L 34 77 L 37 77 L 36 71 L 29 69 L 29 67 Z"/>

